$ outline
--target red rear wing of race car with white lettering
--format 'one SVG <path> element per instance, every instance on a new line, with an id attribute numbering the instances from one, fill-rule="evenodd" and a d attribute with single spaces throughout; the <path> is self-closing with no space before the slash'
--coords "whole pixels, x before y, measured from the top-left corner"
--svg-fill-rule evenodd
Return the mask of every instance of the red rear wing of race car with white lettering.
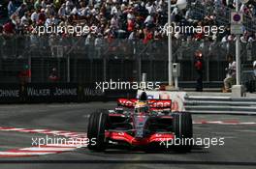
<path id="1" fill-rule="evenodd" d="M 127 108 L 134 108 L 139 99 L 117 99 L 117 105 Z M 146 100 L 151 109 L 171 109 L 171 99 L 147 99 Z"/>

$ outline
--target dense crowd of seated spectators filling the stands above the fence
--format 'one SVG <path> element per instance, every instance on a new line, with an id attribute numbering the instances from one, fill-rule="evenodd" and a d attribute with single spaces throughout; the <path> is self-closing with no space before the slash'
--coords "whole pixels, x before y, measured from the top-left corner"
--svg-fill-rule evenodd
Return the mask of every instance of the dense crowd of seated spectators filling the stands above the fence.
<path id="1" fill-rule="evenodd" d="M 20 2 L 22 1 L 22 2 Z M 16 4 L 19 5 L 16 6 Z M 185 42 L 208 40 L 210 42 L 234 42 L 230 25 L 219 21 L 235 8 L 236 0 L 188 0 L 184 10 L 172 8 L 172 22 L 179 26 L 224 26 L 225 31 L 206 36 L 202 33 L 174 33 L 174 39 Z M 176 0 L 172 0 L 175 4 Z M 165 40 L 163 27 L 167 23 L 166 0 L 9 0 L 7 4 L 9 20 L 0 26 L 0 34 L 37 36 L 37 26 L 88 26 L 97 27 L 96 32 L 82 36 L 86 42 L 95 40 L 99 44 L 105 39 L 149 41 Z M 195 9 L 198 8 L 198 9 Z M 204 9 L 202 11 L 202 9 Z M 201 10 L 201 11 L 200 11 Z M 252 20 L 256 15 L 256 0 L 240 4 L 240 12 Z M 223 25 L 224 24 L 224 25 Z M 241 42 L 254 42 L 255 33 L 243 28 Z M 51 33 L 45 36 L 75 37 L 73 34 Z M 97 40 L 97 41 L 96 41 Z M 96 45 L 95 44 L 95 45 Z"/>

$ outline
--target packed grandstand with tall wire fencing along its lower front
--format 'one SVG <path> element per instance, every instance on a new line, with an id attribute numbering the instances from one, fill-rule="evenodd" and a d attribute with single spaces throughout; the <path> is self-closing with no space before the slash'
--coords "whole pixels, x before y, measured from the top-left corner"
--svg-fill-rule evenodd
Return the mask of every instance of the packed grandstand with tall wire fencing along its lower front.
<path id="1" fill-rule="evenodd" d="M 166 1 L 12 2 L 15 10 L 12 12 L 10 2 L 4 1 L 0 14 L 3 23 L 0 29 L 0 75 L 7 79 L 6 82 L 18 81 L 16 73 L 23 68 L 19 63 L 32 64 L 32 82 L 44 82 L 52 67 L 58 68 L 62 81 L 137 79 L 141 71 L 147 72 L 149 80 L 167 80 L 167 36 L 161 29 L 167 22 Z M 225 27 L 224 33 L 209 36 L 204 33 L 173 34 L 174 59 L 181 63 L 181 81 L 195 80 L 193 55 L 201 49 L 206 61 L 204 80 L 221 83 L 225 77 L 226 55 L 235 56 L 235 37 L 229 29 L 233 9 L 232 0 L 188 0 L 185 10 L 173 9 L 172 21 L 177 25 Z M 252 50 L 256 45 L 255 1 L 240 4 L 240 12 L 245 15 L 240 41 L 241 61 L 246 66 L 256 59 Z M 7 19 L 11 19 L 12 24 L 8 25 Z M 38 36 L 33 32 L 34 27 L 47 24 L 96 25 L 98 29 L 96 33 L 82 36 L 59 33 Z M 68 63 L 71 65 L 67 66 Z M 127 70 L 118 72 L 120 68 Z M 102 70 L 106 73 L 101 73 Z"/>

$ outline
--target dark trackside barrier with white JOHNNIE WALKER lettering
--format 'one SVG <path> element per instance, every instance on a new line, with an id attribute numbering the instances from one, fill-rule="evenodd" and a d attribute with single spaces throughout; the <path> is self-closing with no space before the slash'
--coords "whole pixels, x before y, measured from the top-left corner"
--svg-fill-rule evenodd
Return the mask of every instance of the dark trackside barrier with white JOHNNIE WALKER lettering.
<path id="1" fill-rule="evenodd" d="M 135 90 L 96 89 L 95 84 L 30 83 L 0 84 L 0 103 L 85 102 L 135 98 Z"/>

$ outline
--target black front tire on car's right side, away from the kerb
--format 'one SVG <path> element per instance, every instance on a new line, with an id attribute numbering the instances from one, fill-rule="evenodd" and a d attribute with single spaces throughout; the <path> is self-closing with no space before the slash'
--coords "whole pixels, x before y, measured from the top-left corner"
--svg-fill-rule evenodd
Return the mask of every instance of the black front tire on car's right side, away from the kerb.
<path id="1" fill-rule="evenodd" d="M 176 152 L 190 152 L 193 145 L 192 117 L 188 112 L 178 112 L 173 114 L 173 131 L 175 132 Z M 177 142 L 177 140 L 179 140 Z"/>

